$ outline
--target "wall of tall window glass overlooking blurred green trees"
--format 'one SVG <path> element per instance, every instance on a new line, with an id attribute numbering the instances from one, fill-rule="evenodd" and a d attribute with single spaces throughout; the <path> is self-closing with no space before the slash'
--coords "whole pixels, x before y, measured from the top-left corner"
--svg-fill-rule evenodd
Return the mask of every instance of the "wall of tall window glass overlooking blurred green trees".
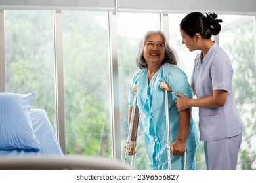
<path id="1" fill-rule="evenodd" d="M 64 10 L 62 14 L 64 110 L 66 154 L 112 155 L 110 107 L 110 39 L 107 11 Z M 54 12 L 51 10 L 4 10 L 6 92 L 35 92 L 33 108 L 46 110 L 56 133 L 56 81 L 54 54 Z M 169 42 L 177 52 L 178 66 L 192 75 L 198 51 L 182 44 L 179 23 L 186 14 L 168 14 Z M 124 13 L 116 15 L 121 124 L 121 159 L 128 135 L 129 83 L 137 68 L 135 50 L 149 30 L 161 29 L 161 14 Z M 256 169 L 256 62 L 255 16 L 220 15 L 222 30 L 215 40 L 234 68 L 234 102 L 244 125 L 238 169 Z M 165 24 L 166 22 L 163 22 Z M 0 68 L 2 69 L 2 68 Z M 198 108 L 192 108 L 198 124 Z M 148 169 L 143 129 L 135 169 Z M 131 161 L 131 159 L 129 159 Z M 197 169 L 206 169 L 203 142 L 197 150 Z"/>

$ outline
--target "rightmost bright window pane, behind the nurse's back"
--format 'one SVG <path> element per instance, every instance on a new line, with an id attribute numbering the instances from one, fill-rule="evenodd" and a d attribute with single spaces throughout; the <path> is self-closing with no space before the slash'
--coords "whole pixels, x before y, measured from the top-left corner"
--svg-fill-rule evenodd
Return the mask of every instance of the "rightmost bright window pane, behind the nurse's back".
<path id="1" fill-rule="evenodd" d="M 219 15 L 223 20 L 219 44 L 234 69 L 234 103 L 244 125 L 238 169 L 256 169 L 255 16 Z"/>

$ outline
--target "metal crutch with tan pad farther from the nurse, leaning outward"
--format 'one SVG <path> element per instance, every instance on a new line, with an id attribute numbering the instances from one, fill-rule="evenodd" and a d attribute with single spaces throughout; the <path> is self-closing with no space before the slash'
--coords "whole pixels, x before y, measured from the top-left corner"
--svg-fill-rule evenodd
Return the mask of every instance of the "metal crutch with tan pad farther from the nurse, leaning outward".
<path id="1" fill-rule="evenodd" d="M 133 110 L 131 111 L 131 120 L 130 120 L 129 132 L 128 132 L 128 137 L 127 137 L 127 144 L 126 144 L 126 148 L 125 148 L 124 163 L 126 163 L 127 159 L 128 159 L 130 142 L 131 142 L 131 133 L 133 131 L 133 122 L 134 122 L 134 118 L 135 118 L 136 101 L 137 101 L 137 86 L 136 85 L 133 86 L 133 91 L 135 92 L 135 95 L 134 95 L 134 98 L 133 98 Z M 137 130 L 137 133 L 138 133 L 138 130 Z M 136 144 L 137 143 L 135 143 L 135 145 Z M 134 160 L 134 158 L 135 157 L 133 157 L 133 160 Z"/>

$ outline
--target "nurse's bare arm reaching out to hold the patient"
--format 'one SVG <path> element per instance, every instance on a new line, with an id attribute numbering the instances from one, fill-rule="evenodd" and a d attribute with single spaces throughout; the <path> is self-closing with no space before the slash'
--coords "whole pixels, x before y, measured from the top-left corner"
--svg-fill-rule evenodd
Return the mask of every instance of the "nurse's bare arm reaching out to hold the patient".
<path id="1" fill-rule="evenodd" d="M 223 107 L 228 98 L 226 90 L 213 90 L 213 95 L 201 99 L 190 99 L 182 94 L 175 93 L 180 99 L 175 100 L 178 112 L 190 107 Z"/>

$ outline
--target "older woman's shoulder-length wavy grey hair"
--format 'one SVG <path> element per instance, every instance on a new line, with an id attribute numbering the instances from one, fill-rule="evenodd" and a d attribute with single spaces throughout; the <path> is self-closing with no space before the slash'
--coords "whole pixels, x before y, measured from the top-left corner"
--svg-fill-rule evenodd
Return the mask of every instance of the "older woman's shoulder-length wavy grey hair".
<path id="1" fill-rule="evenodd" d="M 144 44 L 146 42 L 146 39 L 150 35 L 155 35 L 158 34 L 163 38 L 163 43 L 165 46 L 165 58 L 163 59 L 163 63 L 170 63 L 173 65 L 177 65 L 177 56 L 174 50 L 169 46 L 169 42 L 167 40 L 167 37 L 162 31 L 148 31 L 142 39 L 140 39 L 139 46 L 137 47 L 137 50 L 135 52 L 135 61 L 136 65 L 140 68 L 148 68 L 148 64 L 146 63 L 146 60 L 144 59 L 143 56 L 143 51 L 144 51 Z"/>

